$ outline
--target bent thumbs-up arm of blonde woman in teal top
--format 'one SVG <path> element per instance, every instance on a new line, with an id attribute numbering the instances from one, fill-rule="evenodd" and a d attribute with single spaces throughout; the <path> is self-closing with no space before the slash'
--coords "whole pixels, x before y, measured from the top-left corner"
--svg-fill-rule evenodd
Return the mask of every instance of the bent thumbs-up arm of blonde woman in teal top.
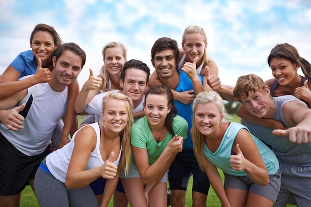
<path id="1" fill-rule="evenodd" d="M 246 129 L 241 129 L 237 133 L 232 150 L 236 154 L 230 157 L 234 170 L 244 170 L 248 177 L 259 185 L 265 186 L 269 183 L 267 167 Z"/>

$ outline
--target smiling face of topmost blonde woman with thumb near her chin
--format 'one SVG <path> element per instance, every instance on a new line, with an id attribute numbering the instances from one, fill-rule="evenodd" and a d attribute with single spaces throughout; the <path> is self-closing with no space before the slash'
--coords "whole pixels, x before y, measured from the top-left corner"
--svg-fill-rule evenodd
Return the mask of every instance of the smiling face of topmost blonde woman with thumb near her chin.
<path id="1" fill-rule="evenodd" d="M 186 61 L 193 62 L 194 58 L 199 57 L 199 60 L 204 55 L 207 48 L 207 43 L 198 33 L 186 34 L 185 41 L 181 44 L 182 49 L 186 54 Z"/>

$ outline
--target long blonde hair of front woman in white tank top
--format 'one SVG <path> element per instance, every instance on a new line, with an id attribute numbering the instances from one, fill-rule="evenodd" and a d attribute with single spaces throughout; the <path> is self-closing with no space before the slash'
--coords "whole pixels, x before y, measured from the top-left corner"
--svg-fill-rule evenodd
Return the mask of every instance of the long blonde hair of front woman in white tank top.
<path id="1" fill-rule="evenodd" d="M 125 173 L 127 174 L 130 168 L 131 154 L 132 154 L 130 130 L 133 125 L 133 110 L 134 110 L 133 102 L 128 96 L 122 93 L 110 92 L 102 100 L 102 111 L 105 110 L 107 102 L 111 99 L 124 101 L 127 106 L 128 122 L 125 128 L 120 133 L 120 138 L 122 140 L 121 141 L 122 153 L 119 164 L 120 167 L 124 167 Z"/>

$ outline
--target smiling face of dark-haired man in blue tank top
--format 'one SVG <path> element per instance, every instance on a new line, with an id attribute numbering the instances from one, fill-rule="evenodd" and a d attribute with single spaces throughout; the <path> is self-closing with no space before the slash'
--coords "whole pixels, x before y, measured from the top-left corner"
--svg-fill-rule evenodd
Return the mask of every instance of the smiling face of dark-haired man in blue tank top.
<path id="1" fill-rule="evenodd" d="M 156 52 L 154 67 L 158 76 L 169 78 L 176 72 L 176 61 L 173 50 Z"/>

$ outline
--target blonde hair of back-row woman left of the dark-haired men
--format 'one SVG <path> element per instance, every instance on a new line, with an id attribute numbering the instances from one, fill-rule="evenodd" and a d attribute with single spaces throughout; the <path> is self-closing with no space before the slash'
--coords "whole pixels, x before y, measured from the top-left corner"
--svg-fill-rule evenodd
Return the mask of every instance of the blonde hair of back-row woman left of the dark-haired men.
<path id="1" fill-rule="evenodd" d="M 105 61 L 105 57 L 106 57 L 106 50 L 108 48 L 121 48 L 122 49 L 122 54 L 123 54 L 123 58 L 126 61 L 127 59 L 127 49 L 126 46 L 122 43 L 117 43 L 117 42 L 110 42 L 108 44 L 106 44 L 103 49 L 102 49 L 102 56 L 103 56 L 103 60 Z M 110 75 L 106 69 L 105 64 L 103 64 L 103 66 L 100 69 L 100 75 L 103 78 L 103 86 L 102 86 L 102 90 L 103 91 L 110 91 L 110 89 L 108 89 L 109 87 L 109 79 L 110 79 Z"/>

